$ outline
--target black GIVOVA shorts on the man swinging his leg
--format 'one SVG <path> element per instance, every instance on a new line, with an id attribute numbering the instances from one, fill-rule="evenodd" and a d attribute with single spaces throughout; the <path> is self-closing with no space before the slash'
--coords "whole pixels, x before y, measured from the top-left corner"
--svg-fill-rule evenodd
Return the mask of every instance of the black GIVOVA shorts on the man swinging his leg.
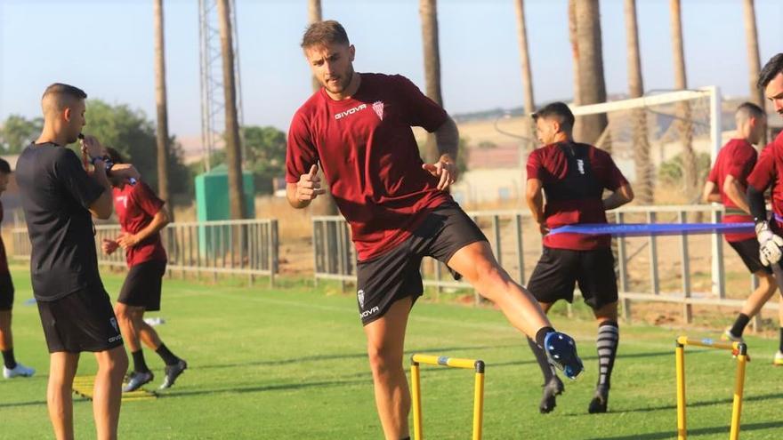
<path id="1" fill-rule="evenodd" d="M 468 244 L 487 241 L 458 204 L 448 202 L 434 209 L 409 236 L 391 251 L 357 262 L 357 302 L 361 324 L 383 316 L 397 300 L 424 293 L 420 266 L 424 257 L 444 263 Z M 452 271 L 455 279 L 459 274 Z"/>

